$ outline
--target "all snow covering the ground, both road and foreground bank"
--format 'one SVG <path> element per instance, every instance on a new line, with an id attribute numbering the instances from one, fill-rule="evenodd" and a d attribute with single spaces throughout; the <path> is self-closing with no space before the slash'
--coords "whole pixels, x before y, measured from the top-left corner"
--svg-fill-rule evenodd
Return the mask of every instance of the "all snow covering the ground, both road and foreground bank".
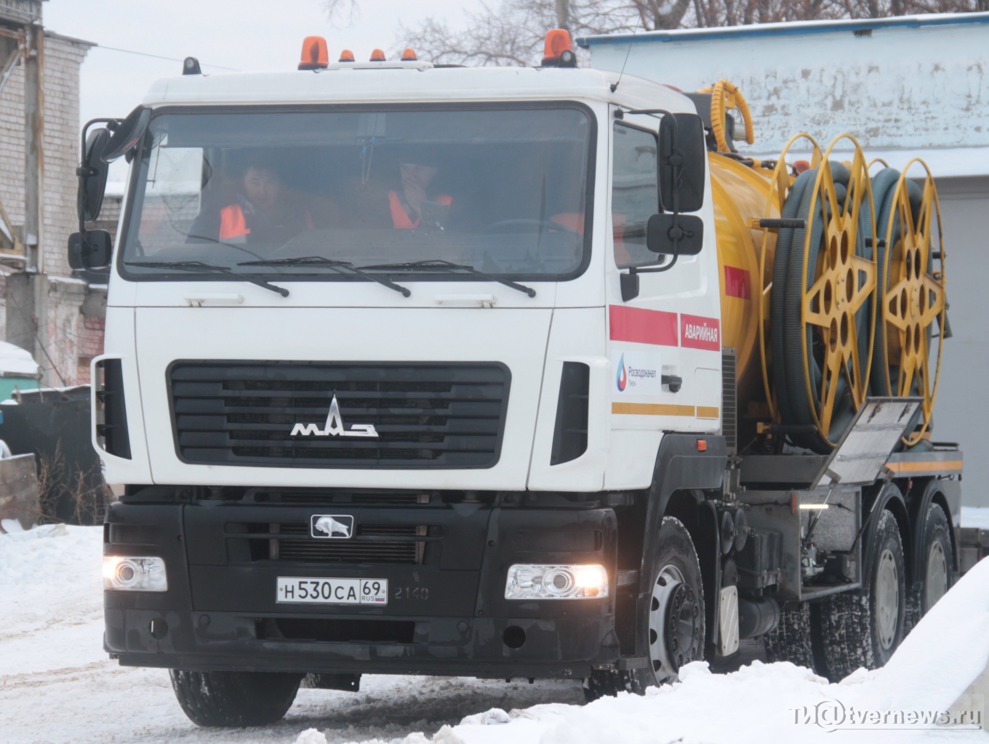
<path id="1" fill-rule="evenodd" d="M 211 730 L 185 717 L 165 672 L 106 658 L 99 527 L 3 526 L 12 532 L 0 535 L 3 744 L 989 741 L 957 729 L 829 733 L 828 725 L 843 710 L 848 720 L 852 708 L 941 710 L 969 686 L 989 660 L 989 561 L 948 593 L 885 669 L 859 670 L 838 685 L 791 664 L 754 661 L 712 674 L 695 663 L 679 684 L 643 698 L 584 705 L 574 682 L 379 676 L 364 678 L 357 694 L 302 690 L 274 726 Z"/>

